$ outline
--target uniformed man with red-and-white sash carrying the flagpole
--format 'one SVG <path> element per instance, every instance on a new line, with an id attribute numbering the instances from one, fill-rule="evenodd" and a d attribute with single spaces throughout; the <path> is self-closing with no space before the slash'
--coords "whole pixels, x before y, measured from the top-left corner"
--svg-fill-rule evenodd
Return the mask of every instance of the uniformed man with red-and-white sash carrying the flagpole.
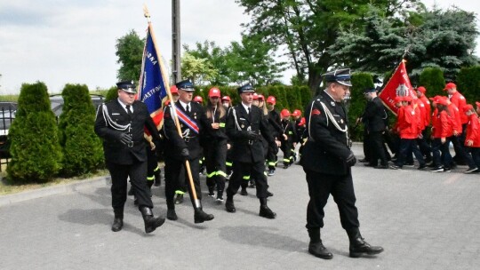
<path id="1" fill-rule="evenodd" d="M 180 172 L 182 171 L 182 167 L 185 166 L 186 160 L 190 163 L 198 203 L 202 200 L 199 161 L 203 155 L 203 149 L 200 146 L 200 136 L 203 136 L 204 124 L 206 123 L 204 107 L 196 102 L 191 102 L 194 92 L 193 83 L 185 80 L 175 85 L 180 92 L 180 99 L 174 103 L 177 111 L 173 111 L 172 104 L 164 109 L 165 152 L 170 153 L 165 156 L 165 166 L 169 167 L 168 170 L 166 170 L 169 175 L 165 178 L 165 197 L 167 203 L 167 218 L 171 220 L 178 219 L 177 213 L 175 212 L 175 203 L 173 203 L 173 196 L 179 186 L 178 182 L 179 179 L 181 179 Z M 173 114 L 178 116 L 183 138 L 180 137 L 177 131 Z M 186 176 L 185 179 L 187 179 L 189 187 L 190 201 L 195 208 L 195 223 L 212 220 L 213 215 L 205 213 L 201 203 L 200 205 L 196 204 L 188 176 Z"/>

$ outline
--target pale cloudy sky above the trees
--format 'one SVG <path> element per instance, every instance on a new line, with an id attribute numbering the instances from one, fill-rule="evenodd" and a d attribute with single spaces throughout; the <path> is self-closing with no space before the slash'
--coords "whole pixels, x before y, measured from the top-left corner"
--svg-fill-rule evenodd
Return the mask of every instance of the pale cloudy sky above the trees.
<path id="1" fill-rule="evenodd" d="M 431 8 L 455 4 L 480 13 L 480 1 L 423 0 Z M 21 83 L 44 82 L 50 93 L 66 83 L 90 90 L 116 83 L 116 40 L 134 29 L 145 36 L 147 4 L 165 63 L 172 59 L 172 0 L 0 0 L 0 94 L 17 94 Z M 181 0 L 181 44 L 204 40 L 220 47 L 240 41 L 248 22 L 234 0 Z M 477 20 L 478 28 L 480 23 Z M 477 42 L 480 43 L 480 42 Z M 476 55 L 480 55 L 477 46 Z M 293 71 L 282 79 L 289 83 Z"/>

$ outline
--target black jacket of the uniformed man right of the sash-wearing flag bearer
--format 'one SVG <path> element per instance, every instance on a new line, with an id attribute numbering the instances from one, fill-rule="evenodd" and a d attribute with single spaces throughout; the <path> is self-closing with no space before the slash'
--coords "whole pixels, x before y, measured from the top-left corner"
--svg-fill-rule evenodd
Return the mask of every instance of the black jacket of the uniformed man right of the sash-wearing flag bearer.
<path id="1" fill-rule="evenodd" d="M 276 143 L 262 110 L 259 107 L 252 106 L 251 111 L 251 115 L 248 115 L 242 104 L 228 110 L 227 135 L 233 141 L 231 156 L 233 161 L 241 163 L 263 163 L 265 161 L 265 153 L 262 142 L 260 138 L 249 140 L 247 131 L 250 130 L 261 134 L 260 136 L 263 136 L 268 141 L 268 144 L 274 148 L 276 148 Z M 240 130 L 236 126 L 236 121 Z"/>

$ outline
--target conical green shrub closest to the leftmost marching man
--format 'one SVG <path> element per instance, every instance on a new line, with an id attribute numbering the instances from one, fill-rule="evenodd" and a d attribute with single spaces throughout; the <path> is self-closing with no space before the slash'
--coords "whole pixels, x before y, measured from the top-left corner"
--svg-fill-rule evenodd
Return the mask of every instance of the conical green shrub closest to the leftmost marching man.
<path id="1" fill-rule="evenodd" d="M 95 108 L 88 87 L 67 84 L 61 95 L 64 105 L 59 138 L 63 149 L 63 174 L 76 176 L 96 171 L 103 165 L 103 151 L 100 138 L 93 131 Z"/>

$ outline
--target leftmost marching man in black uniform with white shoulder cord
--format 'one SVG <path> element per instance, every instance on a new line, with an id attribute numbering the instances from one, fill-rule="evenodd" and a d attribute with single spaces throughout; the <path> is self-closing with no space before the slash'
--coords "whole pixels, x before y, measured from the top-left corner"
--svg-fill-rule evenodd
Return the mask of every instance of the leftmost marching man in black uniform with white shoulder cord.
<path id="1" fill-rule="evenodd" d="M 116 83 L 118 99 L 99 106 L 95 120 L 95 133 L 103 139 L 103 151 L 112 177 L 112 207 L 115 214 L 112 231 L 124 226 L 124 204 L 127 196 L 127 178 L 130 177 L 133 194 L 145 222 L 145 232 L 151 233 L 164 224 L 165 218 L 155 218 L 153 203 L 147 187 L 147 151 L 143 138 L 147 127 L 154 140 L 160 136 L 148 113 L 147 106 L 135 100 L 133 82 Z"/>

